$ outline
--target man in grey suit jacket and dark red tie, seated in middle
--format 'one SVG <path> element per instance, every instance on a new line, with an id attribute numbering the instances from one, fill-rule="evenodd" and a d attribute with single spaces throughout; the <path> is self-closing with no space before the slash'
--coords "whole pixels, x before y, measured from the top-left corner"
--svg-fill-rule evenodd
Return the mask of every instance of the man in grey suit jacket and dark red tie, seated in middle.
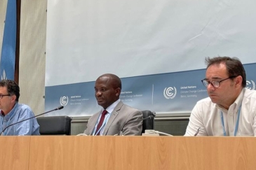
<path id="1" fill-rule="evenodd" d="M 87 124 L 87 135 L 141 135 L 142 112 L 119 99 L 121 80 L 114 74 L 104 74 L 95 82 L 95 97 L 102 111 L 95 113 Z"/>

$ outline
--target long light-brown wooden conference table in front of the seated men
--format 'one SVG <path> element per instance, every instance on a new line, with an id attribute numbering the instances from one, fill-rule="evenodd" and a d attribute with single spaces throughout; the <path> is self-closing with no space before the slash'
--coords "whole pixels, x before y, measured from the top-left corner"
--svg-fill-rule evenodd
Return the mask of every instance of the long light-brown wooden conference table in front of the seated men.
<path id="1" fill-rule="evenodd" d="M 256 169 L 255 137 L 0 136 L 0 169 Z"/>

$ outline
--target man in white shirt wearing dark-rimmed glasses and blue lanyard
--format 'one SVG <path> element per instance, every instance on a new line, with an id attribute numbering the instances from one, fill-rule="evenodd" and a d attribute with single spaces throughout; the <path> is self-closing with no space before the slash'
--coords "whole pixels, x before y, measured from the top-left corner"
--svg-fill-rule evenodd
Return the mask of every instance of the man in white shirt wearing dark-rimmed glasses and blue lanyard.
<path id="1" fill-rule="evenodd" d="M 230 57 L 208 57 L 206 64 L 209 97 L 194 106 L 185 136 L 256 136 L 256 91 L 245 88 L 243 64 Z"/>

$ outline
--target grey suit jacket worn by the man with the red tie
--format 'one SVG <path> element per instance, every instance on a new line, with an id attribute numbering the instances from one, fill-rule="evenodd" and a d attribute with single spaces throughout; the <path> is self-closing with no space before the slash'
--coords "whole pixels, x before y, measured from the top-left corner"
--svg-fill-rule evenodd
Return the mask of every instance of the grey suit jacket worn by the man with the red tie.
<path id="1" fill-rule="evenodd" d="M 90 135 L 96 125 L 97 118 L 101 112 L 95 113 L 88 120 L 84 134 Z M 137 120 L 137 121 L 136 121 Z M 135 121 L 135 122 L 131 122 Z M 142 112 L 123 104 L 120 101 L 110 115 L 102 135 L 115 135 L 121 132 L 123 135 L 141 135 L 142 133 Z"/>

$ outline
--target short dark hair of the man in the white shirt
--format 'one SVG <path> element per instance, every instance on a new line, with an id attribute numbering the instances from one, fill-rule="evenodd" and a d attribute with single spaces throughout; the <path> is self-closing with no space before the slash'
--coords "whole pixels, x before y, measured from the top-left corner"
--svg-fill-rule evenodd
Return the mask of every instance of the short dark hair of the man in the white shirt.
<path id="1" fill-rule="evenodd" d="M 230 76 L 242 76 L 242 86 L 246 86 L 246 73 L 243 64 L 237 57 L 206 57 L 207 69 L 213 64 L 226 64 L 227 73 Z"/>

